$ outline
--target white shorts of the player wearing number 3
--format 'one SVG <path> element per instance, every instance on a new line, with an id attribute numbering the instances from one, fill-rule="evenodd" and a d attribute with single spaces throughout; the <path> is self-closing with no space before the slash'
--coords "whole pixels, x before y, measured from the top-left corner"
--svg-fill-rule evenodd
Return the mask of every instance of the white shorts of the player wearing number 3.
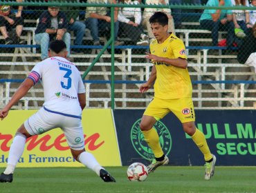
<path id="1" fill-rule="evenodd" d="M 41 108 L 24 122 L 24 126 L 32 136 L 43 134 L 54 128 L 61 128 L 71 149 L 84 149 L 84 132 L 81 119 L 48 112 Z"/>

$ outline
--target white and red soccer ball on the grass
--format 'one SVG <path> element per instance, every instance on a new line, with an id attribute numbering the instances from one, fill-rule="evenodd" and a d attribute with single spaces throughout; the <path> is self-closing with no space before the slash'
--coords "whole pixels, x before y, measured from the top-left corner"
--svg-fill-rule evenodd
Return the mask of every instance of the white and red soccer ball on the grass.
<path id="1" fill-rule="evenodd" d="M 148 175 L 147 167 L 143 163 L 132 163 L 127 169 L 129 181 L 145 181 Z"/>

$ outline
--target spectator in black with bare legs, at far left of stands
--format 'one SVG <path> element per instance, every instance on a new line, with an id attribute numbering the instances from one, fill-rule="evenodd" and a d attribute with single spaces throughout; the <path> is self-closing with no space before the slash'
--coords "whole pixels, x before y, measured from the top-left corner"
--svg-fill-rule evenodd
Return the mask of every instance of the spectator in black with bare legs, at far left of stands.
<path id="1" fill-rule="evenodd" d="M 17 0 L 22 2 L 22 0 Z M 21 17 L 23 7 L 19 6 L 15 15 L 11 14 L 10 6 L 0 6 L 0 31 L 5 39 L 5 44 L 24 43 L 20 40 L 24 19 Z M 16 32 L 12 32 L 16 28 Z"/>

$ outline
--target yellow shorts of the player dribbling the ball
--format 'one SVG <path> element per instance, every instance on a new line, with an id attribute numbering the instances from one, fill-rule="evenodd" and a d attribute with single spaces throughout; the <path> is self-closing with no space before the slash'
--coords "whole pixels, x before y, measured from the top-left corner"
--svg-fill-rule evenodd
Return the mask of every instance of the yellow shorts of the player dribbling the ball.
<path id="1" fill-rule="evenodd" d="M 169 112 L 173 112 L 181 123 L 195 121 L 192 98 L 181 99 L 154 99 L 147 106 L 144 115 L 154 116 L 158 121 Z"/>

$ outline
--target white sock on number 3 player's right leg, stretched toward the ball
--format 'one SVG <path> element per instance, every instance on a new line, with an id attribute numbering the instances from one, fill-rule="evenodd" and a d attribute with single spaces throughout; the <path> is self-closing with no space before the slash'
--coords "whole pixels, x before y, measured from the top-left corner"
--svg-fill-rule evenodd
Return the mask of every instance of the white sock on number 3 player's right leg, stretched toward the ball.
<path id="1" fill-rule="evenodd" d="M 86 167 L 93 170 L 98 176 L 100 176 L 100 170 L 104 169 L 100 166 L 100 163 L 98 163 L 93 154 L 90 154 L 89 152 L 82 152 L 78 156 L 78 160 Z"/>

